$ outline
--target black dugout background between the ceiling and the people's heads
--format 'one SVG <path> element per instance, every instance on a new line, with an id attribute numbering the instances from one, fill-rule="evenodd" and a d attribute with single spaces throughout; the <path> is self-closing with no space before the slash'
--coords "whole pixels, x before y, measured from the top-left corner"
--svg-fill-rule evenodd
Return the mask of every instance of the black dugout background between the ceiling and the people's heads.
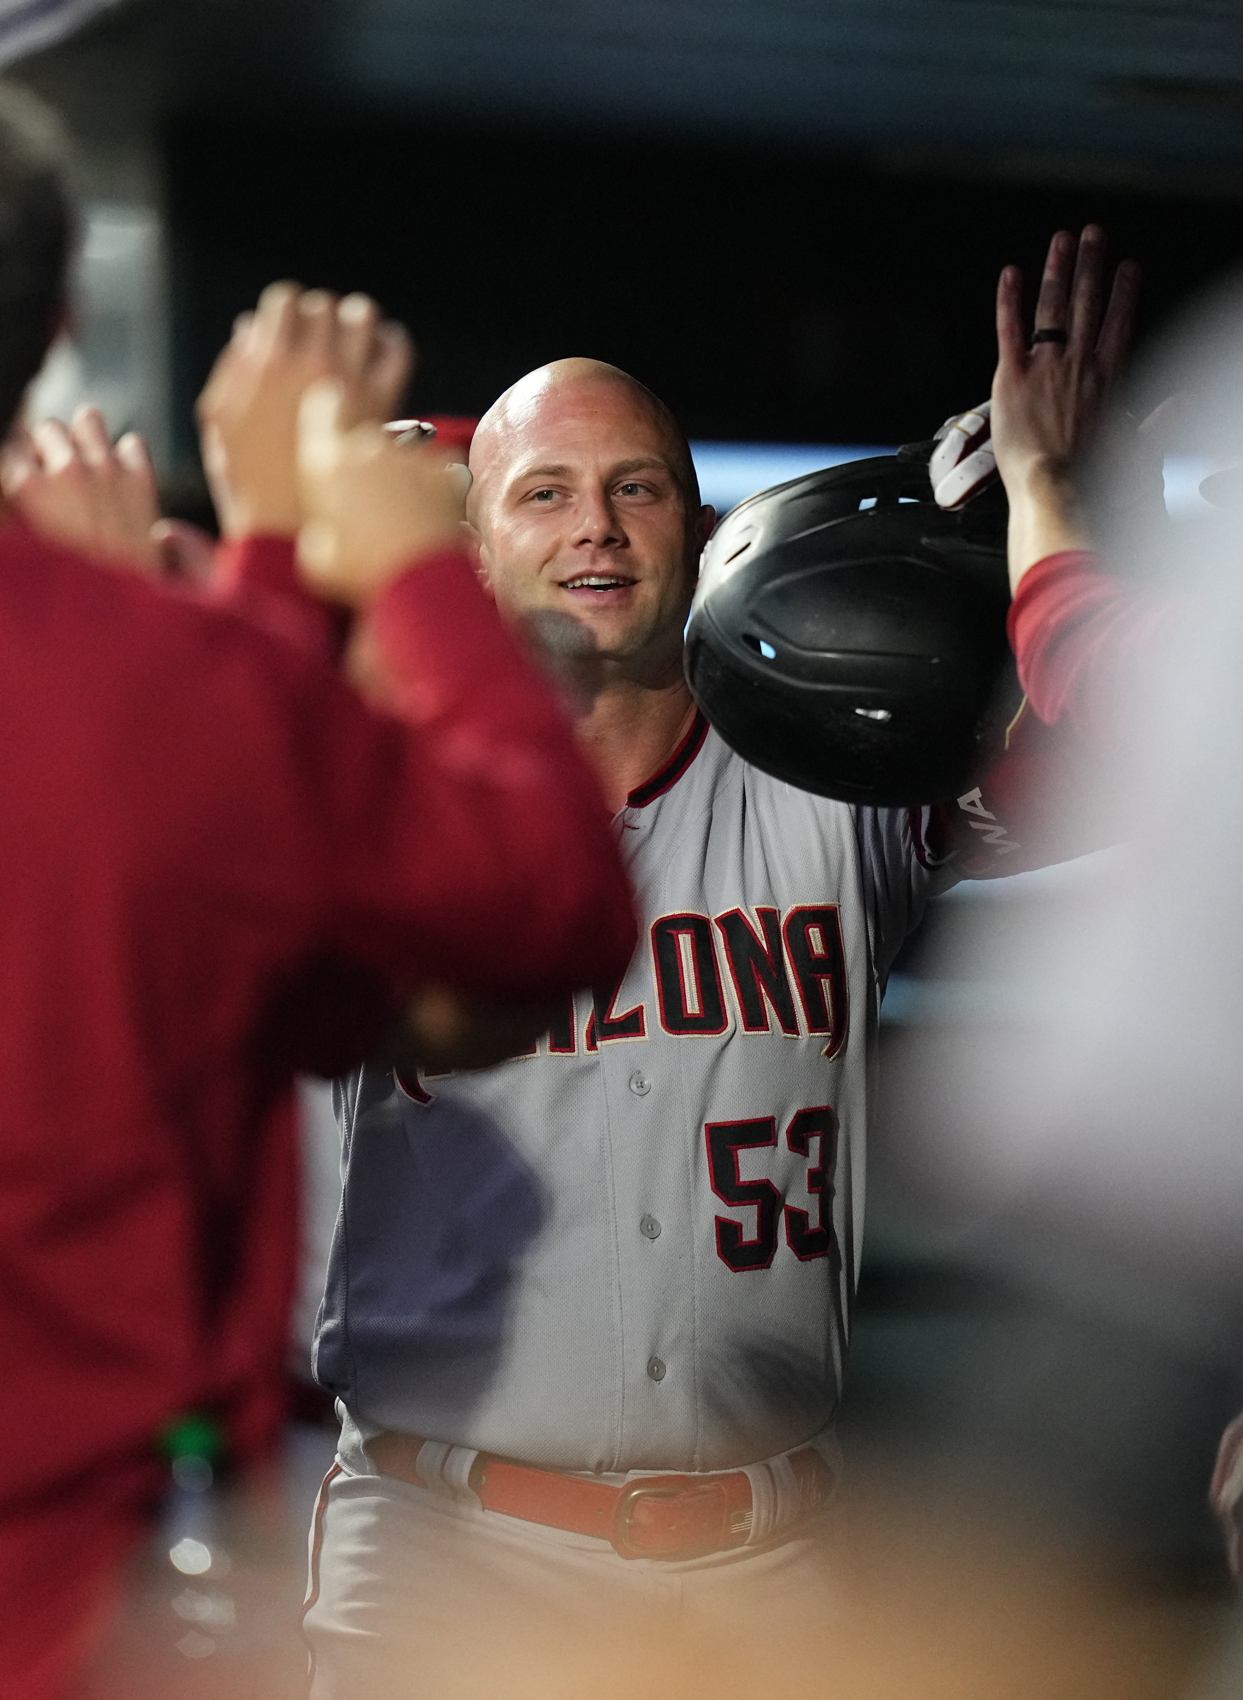
<path id="1" fill-rule="evenodd" d="M 417 405 L 478 413 L 590 354 L 692 437 L 901 442 L 990 388 L 1003 264 L 1059 224 L 1144 264 L 1144 330 L 1243 255 L 1243 209 L 1081 184 L 894 175 L 823 146 L 236 109 L 167 133 L 177 418 L 279 275 L 413 326 Z M 182 439 L 189 449 L 189 439 Z"/>

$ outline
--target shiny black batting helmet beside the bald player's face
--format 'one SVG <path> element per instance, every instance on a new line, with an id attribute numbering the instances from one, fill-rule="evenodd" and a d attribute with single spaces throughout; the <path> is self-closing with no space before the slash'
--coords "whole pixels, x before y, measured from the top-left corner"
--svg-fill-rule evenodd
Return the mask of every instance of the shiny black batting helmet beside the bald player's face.
<path id="1" fill-rule="evenodd" d="M 687 680 L 724 741 L 801 790 L 959 797 L 1022 692 L 1000 484 L 937 507 L 932 444 L 748 496 L 704 551 Z"/>

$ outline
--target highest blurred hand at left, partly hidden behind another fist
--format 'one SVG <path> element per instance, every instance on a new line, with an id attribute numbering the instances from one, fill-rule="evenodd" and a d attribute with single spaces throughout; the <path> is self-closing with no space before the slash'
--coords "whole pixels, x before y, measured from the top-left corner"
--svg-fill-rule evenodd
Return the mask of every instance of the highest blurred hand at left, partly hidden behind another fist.
<path id="1" fill-rule="evenodd" d="M 309 384 L 337 381 L 349 423 L 384 420 L 411 366 L 405 330 L 381 321 L 367 296 L 269 286 L 199 396 L 202 466 L 224 536 L 298 532 L 298 408 Z"/>

